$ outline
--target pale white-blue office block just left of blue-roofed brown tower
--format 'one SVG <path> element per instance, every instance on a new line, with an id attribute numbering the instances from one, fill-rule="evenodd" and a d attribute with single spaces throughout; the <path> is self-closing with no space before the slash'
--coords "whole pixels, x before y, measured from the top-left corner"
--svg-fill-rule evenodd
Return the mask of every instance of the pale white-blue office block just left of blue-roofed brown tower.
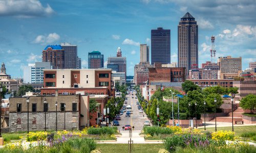
<path id="1" fill-rule="evenodd" d="M 44 70 L 52 69 L 50 62 L 35 62 L 24 66 L 23 79 L 25 84 L 43 84 L 44 83 Z"/>

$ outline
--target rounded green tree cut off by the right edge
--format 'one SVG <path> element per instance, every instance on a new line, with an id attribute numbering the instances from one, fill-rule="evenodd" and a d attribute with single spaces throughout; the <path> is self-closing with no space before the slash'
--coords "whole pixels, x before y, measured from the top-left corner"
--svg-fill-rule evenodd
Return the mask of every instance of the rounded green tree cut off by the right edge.
<path id="1" fill-rule="evenodd" d="M 256 113 L 256 95 L 248 94 L 240 100 L 240 106 L 244 110 L 250 110 L 251 114 Z"/>

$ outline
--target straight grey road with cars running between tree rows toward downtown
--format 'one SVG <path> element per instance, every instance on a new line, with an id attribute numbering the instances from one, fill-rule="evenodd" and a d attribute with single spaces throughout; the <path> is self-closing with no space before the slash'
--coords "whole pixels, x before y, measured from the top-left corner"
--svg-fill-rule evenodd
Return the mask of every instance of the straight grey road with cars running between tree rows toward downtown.
<path id="1" fill-rule="evenodd" d="M 136 105 L 136 101 L 138 101 L 136 97 L 136 92 L 133 92 L 130 94 L 126 95 L 127 97 L 127 104 L 124 104 L 125 106 L 131 105 L 132 106 L 132 114 L 131 117 L 125 117 L 125 113 L 123 113 L 123 115 L 121 115 L 121 120 L 119 120 L 119 126 L 118 130 L 122 131 L 122 126 L 126 125 L 126 124 L 130 124 L 131 126 L 134 126 L 134 130 L 142 130 L 143 126 L 144 126 L 144 121 L 147 120 L 146 118 L 146 114 L 144 113 L 139 113 L 138 110 L 138 105 Z M 132 98 L 133 97 L 133 98 Z M 144 117 L 143 117 L 144 114 Z"/>

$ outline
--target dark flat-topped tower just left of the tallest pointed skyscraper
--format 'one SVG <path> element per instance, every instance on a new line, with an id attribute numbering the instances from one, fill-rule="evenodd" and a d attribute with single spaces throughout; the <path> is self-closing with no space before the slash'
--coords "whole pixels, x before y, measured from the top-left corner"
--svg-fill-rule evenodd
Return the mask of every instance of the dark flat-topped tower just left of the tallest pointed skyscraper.
<path id="1" fill-rule="evenodd" d="M 151 64 L 170 63 L 170 30 L 151 30 Z"/>

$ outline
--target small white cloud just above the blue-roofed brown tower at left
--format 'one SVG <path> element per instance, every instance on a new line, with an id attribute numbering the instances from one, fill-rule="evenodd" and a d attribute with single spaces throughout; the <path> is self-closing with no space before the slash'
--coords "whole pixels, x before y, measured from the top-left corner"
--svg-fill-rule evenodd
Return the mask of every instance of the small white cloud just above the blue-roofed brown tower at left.
<path id="1" fill-rule="evenodd" d="M 33 41 L 33 43 L 41 43 L 41 44 L 53 43 L 59 40 L 59 38 L 60 36 L 56 33 L 50 33 L 47 37 L 44 35 L 38 35 Z"/>

